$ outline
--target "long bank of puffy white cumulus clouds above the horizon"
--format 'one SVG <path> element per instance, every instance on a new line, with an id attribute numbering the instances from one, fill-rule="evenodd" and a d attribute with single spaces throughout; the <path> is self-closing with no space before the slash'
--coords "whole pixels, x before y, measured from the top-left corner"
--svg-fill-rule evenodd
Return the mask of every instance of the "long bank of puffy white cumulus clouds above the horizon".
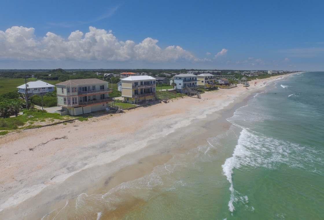
<path id="1" fill-rule="evenodd" d="M 129 40 L 118 41 L 111 30 L 107 32 L 91 26 L 86 34 L 76 30 L 67 39 L 52 32 L 39 39 L 34 31 L 34 28 L 25 27 L 0 31 L 0 57 L 17 60 L 199 61 L 179 46 L 162 49 L 157 45 L 158 40 L 152 38 L 138 44 Z"/>

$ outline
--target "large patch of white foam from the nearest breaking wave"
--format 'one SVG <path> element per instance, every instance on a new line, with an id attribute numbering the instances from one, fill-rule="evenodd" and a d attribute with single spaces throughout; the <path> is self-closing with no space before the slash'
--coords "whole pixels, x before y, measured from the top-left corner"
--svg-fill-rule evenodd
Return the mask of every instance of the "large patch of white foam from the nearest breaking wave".
<path id="1" fill-rule="evenodd" d="M 233 155 L 227 158 L 222 165 L 223 174 L 230 183 L 230 200 L 228 207 L 231 212 L 235 210 L 235 203 L 248 203 L 248 197 L 242 196 L 233 187 L 232 174 L 234 169 L 251 169 L 264 167 L 276 169 L 281 164 L 289 167 L 312 169 L 318 153 L 311 148 L 284 142 L 263 134 L 243 129 L 237 141 Z M 323 164 L 324 161 L 317 161 Z M 314 171 L 314 169 L 310 170 Z"/>

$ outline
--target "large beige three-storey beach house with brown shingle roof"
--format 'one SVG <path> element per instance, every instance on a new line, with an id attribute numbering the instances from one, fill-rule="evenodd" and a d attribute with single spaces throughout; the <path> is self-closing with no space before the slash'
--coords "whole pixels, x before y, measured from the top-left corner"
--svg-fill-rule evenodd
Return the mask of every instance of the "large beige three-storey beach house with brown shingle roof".
<path id="1" fill-rule="evenodd" d="M 112 88 L 101 79 L 70 79 L 57 83 L 57 105 L 61 115 L 80 115 L 105 110 L 114 98 L 109 97 Z"/>

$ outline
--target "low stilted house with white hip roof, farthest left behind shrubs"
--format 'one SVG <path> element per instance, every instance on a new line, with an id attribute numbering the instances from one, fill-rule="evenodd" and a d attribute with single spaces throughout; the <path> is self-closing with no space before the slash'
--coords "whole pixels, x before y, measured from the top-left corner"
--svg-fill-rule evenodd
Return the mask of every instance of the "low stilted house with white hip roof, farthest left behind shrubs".
<path id="1" fill-rule="evenodd" d="M 48 92 L 54 91 L 54 87 L 55 86 L 43 82 L 41 80 L 31 81 L 27 83 L 27 93 L 29 97 L 33 95 L 45 95 Z M 25 95 L 26 84 L 18 86 L 17 88 L 18 88 L 18 93 Z"/>

